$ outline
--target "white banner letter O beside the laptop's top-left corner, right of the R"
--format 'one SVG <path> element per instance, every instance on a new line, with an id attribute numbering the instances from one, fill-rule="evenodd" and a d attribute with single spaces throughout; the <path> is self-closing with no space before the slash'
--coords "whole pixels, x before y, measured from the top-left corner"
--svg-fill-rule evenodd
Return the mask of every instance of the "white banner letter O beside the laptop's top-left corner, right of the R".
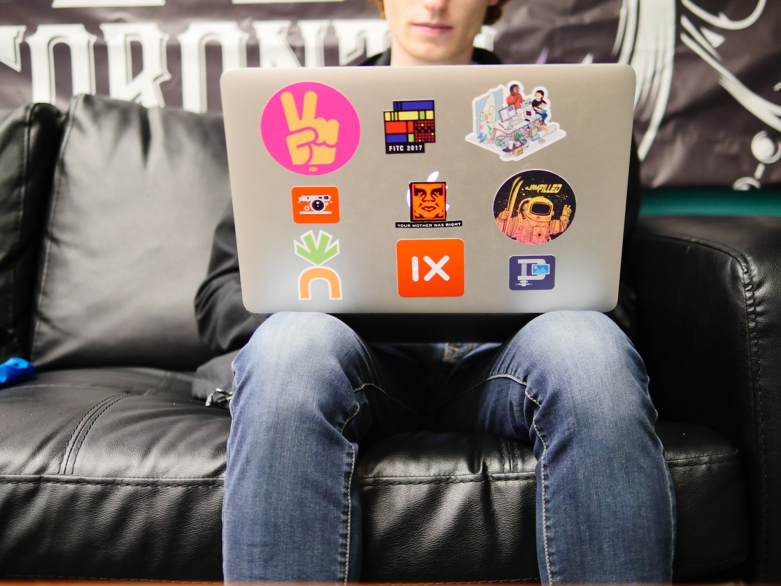
<path id="1" fill-rule="evenodd" d="M 206 43 L 223 48 L 223 71 L 247 65 L 249 34 L 235 22 L 195 22 L 177 36 L 182 48 L 182 106 L 206 111 Z"/>

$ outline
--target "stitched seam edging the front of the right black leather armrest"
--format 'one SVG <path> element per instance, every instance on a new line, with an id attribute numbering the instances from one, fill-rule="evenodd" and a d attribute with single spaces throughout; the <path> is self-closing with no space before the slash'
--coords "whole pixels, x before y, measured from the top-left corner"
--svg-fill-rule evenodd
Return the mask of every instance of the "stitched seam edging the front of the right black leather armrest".
<path id="1" fill-rule="evenodd" d="M 754 277 L 751 273 L 751 263 L 749 262 L 747 256 L 737 250 L 736 248 L 733 248 L 732 246 L 726 245 L 723 242 L 719 241 L 704 241 L 700 240 L 698 238 L 687 238 L 685 236 L 679 235 L 679 234 L 651 234 L 650 238 L 654 238 L 657 240 L 672 240 L 672 241 L 684 241 L 688 242 L 693 245 L 700 245 L 704 248 L 711 248 L 711 250 L 716 250 L 718 252 L 722 252 L 722 254 L 729 255 L 733 259 L 736 260 L 737 263 L 740 264 L 740 272 L 743 274 L 744 277 L 744 301 L 745 301 L 745 307 L 746 307 L 746 317 L 747 317 L 747 334 L 748 338 L 750 340 L 749 347 L 751 348 L 751 364 L 753 365 L 756 363 L 756 379 L 754 380 L 754 368 L 751 369 L 751 378 L 752 378 L 752 395 L 757 400 L 757 409 L 758 409 L 758 439 L 759 439 L 759 446 L 760 446 L 760 452 L 761 452 L 761 498 L 760 498 L 760 505 L 761 508 L 764 509 L 764 520 L 762 520 L 762 563 L 761 563 L 761 576 L 759 578 L 759 581 L 766 581 L 767 580 L 767 567 L 768 567 L 768 540 L 769 540 L 769 512 L 768 512 L 768 475 L 767 475 L 767 455 L 765 452 L 765 433 L 764 433 L 764 418 L 762 416 L 762 393 L 761 393 L 761 365 L 759 362 L 759 335 L 758 335 L 758 324 L 757 324 L 757 307 L 756 307 L 756 299 L 754 298 Z M 719 245 L 722 248 L 716 248 L 715 245 Z M 753 397 L 752 397 L 753 398 Z"/>

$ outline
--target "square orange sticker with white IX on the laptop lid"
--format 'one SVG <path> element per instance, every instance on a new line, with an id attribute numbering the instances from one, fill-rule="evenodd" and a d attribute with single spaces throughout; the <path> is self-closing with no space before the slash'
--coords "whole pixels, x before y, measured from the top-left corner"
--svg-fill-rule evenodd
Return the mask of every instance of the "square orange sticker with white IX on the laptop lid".
<path id="1" fill-rule="evenodd" d="M 460 238 L 399 240 L 396 275 L 401 297 L 464 295 L 464 241 Z"/>

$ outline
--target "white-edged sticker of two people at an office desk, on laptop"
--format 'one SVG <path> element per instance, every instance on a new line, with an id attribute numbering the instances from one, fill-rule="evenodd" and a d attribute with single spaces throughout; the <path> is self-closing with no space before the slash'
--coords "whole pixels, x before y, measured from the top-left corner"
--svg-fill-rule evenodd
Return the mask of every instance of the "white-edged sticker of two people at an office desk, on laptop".
<path id="1" fill-rule="evenodd" d="M 552 118 L 547 88 L 526 93 L 519 81 L 490 89 L 472 101 L 473 132 L 466 141 L 519 161 L 560 141 L 567 133 Z"/>

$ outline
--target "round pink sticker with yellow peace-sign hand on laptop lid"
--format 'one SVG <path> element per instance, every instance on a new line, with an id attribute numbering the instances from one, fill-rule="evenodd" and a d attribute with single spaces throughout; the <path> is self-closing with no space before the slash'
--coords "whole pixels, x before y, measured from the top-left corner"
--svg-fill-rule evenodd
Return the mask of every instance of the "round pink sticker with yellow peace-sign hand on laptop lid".
<path id="1" fill-rule="evenodd" d="M 361 124 L 341 92 L 301 81 L 272 96 L 260 118 L 260 134 L 281 166 L 301 175 L 324 175 L 351 159 Z"/>

